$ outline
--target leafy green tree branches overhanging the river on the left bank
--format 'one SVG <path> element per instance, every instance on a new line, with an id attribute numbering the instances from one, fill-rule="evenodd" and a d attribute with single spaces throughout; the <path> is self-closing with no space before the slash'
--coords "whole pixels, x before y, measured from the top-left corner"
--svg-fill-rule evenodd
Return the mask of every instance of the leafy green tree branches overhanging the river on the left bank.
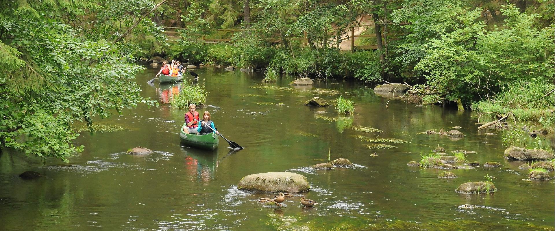
<path id="1" fill-rule="evenodd" d="M 32 4 L 29 4 L 32 3 Z M 132 4 L 133 3 L 133 4 Z M 114 43 L 152 1 L 0 2 L 0 140 L 27 156 L 67 162 L 83 151 L 73 140 L 75 122 L 122 113 L 139 103 L 134 82 L 143 68 L 127 39 Z M 132 6 L 131 6 L 132 5 Z M 112 9 L 127 8 L 127 11 Z M 14 10 L 16 9 L 16 10 Z M 85 26 L 86 25 L 86 26 Z M 130 31 L 163 38 L 150 19 Z"/>

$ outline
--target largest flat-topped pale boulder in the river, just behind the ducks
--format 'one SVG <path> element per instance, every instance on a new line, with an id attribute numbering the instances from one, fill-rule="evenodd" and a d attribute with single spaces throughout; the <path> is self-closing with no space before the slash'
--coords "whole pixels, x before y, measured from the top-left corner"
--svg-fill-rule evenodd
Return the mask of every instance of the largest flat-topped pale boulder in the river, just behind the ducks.
<path id="1" fill-rule="evenodd" d="M 237 189 L 264 192 L 305 192 L 310 185 L 305 176 L 293 172 L 265 172 L 241 178 Z"/>

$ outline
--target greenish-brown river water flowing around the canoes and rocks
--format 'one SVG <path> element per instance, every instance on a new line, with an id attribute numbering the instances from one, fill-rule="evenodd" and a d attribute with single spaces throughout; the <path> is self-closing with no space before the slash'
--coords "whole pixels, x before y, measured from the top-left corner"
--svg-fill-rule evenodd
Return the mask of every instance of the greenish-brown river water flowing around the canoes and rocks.
<path id="1" fill-rule="evenodd" d="M 180 145 L 186 110 L 167 103 L 179 93 L 179 84 L 148 85 L 155 73 L 148 69 L 137 81 L 142 95 L 160 106 L 140 105 L 96 120 L 124 130 L 82 132 L 75 143 L 85 151 L 70 163 L 0 156 L 0 230 L 553 230 L 553 180 L 523 180 L 528 173 L 518 169 L 523 162 L 502 157 L 501 132 L 478 133 L 472 112 L 388 101 L 371 86 L 350 81 L 290 86 L 290 77 L 263 84 L 260 73 L 200 69 L 198 84 L 208 91 L 208 105 L 198 111 L 210 111 L 218 130 L 245 147 L 230 152 L 220 138 L 220 147 L 210 152 Z M 330 101 L 340 95 L 355 102 L 351 118 L 337 119 L 334 106 L 303 106 L 313 96 Z M 273 105 L 279 102 L 285 106 Z M 360 126 L 382 132 L 354 129 Z M 453 126 L 464 127 L 460 131 L 466 136 L 417 135 Z M 377 142 L 396 147 L 369 149 L 366 145 L 374 142 L 356 135 L 410 143 Z M 476 151 L 467 154 L 468 161 L 503 167 L 451 170 L 458 178 L 441 179 L 437 174 L 443 170 L 406 165 L 438 145 L 448 153 Z M 137 146 L 155 152 L 125 153 Z M 329 150 L 331 160 L 348 158 L 356 165 L 331 171 L 308 167 L 327 162 Z M 17 176 L 27 170 L 44 177 Z M 236 189 L 241 177 L 274 171 L 306 176 L 311 191 L 304 194 L 319 205 L 305 209 L 295 197 L 282 208 L 267 206 L 256 199 L 273 194 Z M 497 192 L 455 192 L 485 176 L 493 178 Z M 478 207 L 459 208 L 463 204 Z"/>

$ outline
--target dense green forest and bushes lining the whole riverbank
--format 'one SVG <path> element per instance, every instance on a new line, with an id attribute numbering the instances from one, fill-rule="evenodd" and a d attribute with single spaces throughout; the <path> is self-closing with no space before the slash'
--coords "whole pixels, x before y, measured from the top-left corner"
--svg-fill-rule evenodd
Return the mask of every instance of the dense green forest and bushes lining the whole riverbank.
<path id="1" fill-rule="evenodd" d="M 67 161 L 79 125 L 138 103 L 134 61 L 162 56 L 311 78 L 406 82 L 553 131 L 553 1 L 18 0 L 0 2 L 0 142 Z M 357 45 L 334 43 L 362 20 Z M 168 38 L 166 27 L 180 38 Z M 243 29 L 233 35 L 219 29 Z M 231 43 L 205 43 L 231 38 Z M 277 42 L 276 42 L 277 40 Z"/>

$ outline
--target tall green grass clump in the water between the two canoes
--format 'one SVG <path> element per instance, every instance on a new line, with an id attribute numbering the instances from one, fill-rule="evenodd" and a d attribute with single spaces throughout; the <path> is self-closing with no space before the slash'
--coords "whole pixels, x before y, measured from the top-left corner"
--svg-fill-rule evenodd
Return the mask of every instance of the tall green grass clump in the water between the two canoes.
<path id="1" fill-rule="evenodd" d="M 203 85 L 193 85 L 190 83 L 183 83 L 181 85 L 181 92 L 171 98 L 171 107 L 174 109 L 186 109 L 189 104 L 196 106 L 206 104 L 206 89 Z"/>

